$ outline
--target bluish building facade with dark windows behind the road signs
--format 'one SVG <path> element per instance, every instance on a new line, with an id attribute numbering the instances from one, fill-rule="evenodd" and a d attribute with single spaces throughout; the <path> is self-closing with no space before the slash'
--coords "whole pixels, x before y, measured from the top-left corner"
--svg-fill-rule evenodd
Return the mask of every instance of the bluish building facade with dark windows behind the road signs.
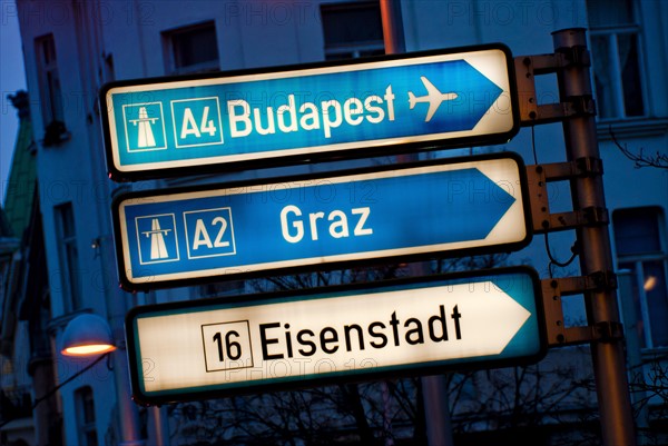
<path id="1" fill-rule="evenodd" d="M 67 323 L 81 313 L 107 318 L 121 345 L 124 316 L 135 305 L 252 290 L 248 284 L 234 283 L 136 295 L 121 291 L 117 286 L 110 219 L 111 199 L 119 191 L 394 162 L 386 157 L 380 161 L 355 160 L 115 184 L 107 178 L 101 138 L 98 92 L 110 81 L 383 53 L 379 2 L 18 0 L 16 10 L 7 12 L 19 18 L 32 98 L 37 195 L 50 296 L 46 329 L 53 351 L 60 351 Z M 619 293 L 622 318 L 627 333 L 635 335 L 633 370 L 651 374 L 651 359 L 665 355 L 668 348 L 665 216 L 668 208 L 668 86 L 665 82 L 668 78 L 665 58 L 668 3 L 652 0 L 415 0 L 401 2 L 401 17 L 406 51 L 503 42 L 515 57 L 542 54 L 553 51 L 552 31 L 588 29 L 607 207 L 616 265 L 626 278 L 626 288 Z M 553 78 L 537 79 L 537 89 L 539 103 L 558 101 Z M 505 145 L 435 150 L 420 157 L 510 150 L 532 165 L 564 161 L 563 147 L 563 131 L 554 123 L 523 128 Z M 549 192 L 553 210 L 569 209 L 570 190 L 566 181 L 551 184 Z M 572 232 L 546 238 L 536 236 L 528 248 L 505 261 L 531 265 L 543 278 L 578 275 L 577 261 L 559 266 L 571 257 L 576 241 Z M 584 323 L 586 306 L 581 298 L 564 299 L 563 305 L 567 324 Z M 90 363 L 55 355 L 56 383 L 67 380 Z M 122 373 L 127 364 L 122 355 L 111 357 L 109 364 L 96 366 L 60 389 L 57 412 L 65 414 L 65 444 L 129 445 L 141 444 L 147 437 L 147 444 L 155 440 L 156 434 L 145 426 L 155 424 L 154 418 L 159 414 L 139 410 L 129 402 L 127 374 Z M 549 357 L 556 360 L 552 353 Z M 661 403 L 661 395 L 644 395 L 651 397 L 642 422 L 642 426 L 650 429 L 658 423 L 656 405 Z M 37 397 L 39 395 L 33 395 Z M 481 426 L 484 409 L 472 413 L 480 418 L 468 418 L 475 429 L 474 426 Z M 492 425 L 480 427 L 481 430 L 493 428 Z"/>

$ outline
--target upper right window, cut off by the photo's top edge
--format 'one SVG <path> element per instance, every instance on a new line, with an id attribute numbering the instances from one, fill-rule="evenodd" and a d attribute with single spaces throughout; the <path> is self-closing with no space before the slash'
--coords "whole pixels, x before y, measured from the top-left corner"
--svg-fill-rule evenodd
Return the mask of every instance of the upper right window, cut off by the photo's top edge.
<path id="1" fill-rule="evenodd" d="M 632 0 L 588 0 L 593 82 L 601 119 L 646 115 L 640 27 Z"/>

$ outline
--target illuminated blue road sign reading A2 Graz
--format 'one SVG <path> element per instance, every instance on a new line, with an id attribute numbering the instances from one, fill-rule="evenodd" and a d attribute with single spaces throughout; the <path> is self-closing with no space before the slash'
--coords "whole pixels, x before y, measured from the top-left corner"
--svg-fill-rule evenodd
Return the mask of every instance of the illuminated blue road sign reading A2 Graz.
<path id="1" fill-rule="evenodd" d="M 514 153 L 284 181 L 144 191 L 115 200 L 128 290 L 361 261 L 515 250 L 530 241 Z"/>

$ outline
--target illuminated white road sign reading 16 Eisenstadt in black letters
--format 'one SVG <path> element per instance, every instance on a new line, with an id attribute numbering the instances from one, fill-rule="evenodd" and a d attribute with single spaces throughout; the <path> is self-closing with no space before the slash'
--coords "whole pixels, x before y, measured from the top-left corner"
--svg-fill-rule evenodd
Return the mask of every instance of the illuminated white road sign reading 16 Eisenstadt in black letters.
<path id="1" fill-rule="evenodd" d="M 139 403 L 527 364 L 546 351 L 529 268 L 137 307 Z"/>

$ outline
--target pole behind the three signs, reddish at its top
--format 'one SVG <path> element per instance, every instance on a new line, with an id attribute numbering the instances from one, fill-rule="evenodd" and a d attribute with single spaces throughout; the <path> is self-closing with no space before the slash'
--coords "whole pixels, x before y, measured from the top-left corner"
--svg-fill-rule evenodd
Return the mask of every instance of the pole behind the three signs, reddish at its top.
<path id="1" fill-rule="evenodd" d="M 381 18 L 383 20 L 383 39 L 386 54 L 405 52 L 403 22 L 401 17 L 401 1 L 381 0 Z M 415 153 L 397 156 L 399 162 L 412 161 Z M 424 265 L 418 264 L 413 272 L 423 275 Z M 422 379 L 422 394 L 424 398 L 424 417 L 426 424 L 426 438 L 429 446 L 451 446 L 452 424 L 450 423 L 450 408 L 445 392 L 445 378 L 442 375 L 424 376 Z"/>

